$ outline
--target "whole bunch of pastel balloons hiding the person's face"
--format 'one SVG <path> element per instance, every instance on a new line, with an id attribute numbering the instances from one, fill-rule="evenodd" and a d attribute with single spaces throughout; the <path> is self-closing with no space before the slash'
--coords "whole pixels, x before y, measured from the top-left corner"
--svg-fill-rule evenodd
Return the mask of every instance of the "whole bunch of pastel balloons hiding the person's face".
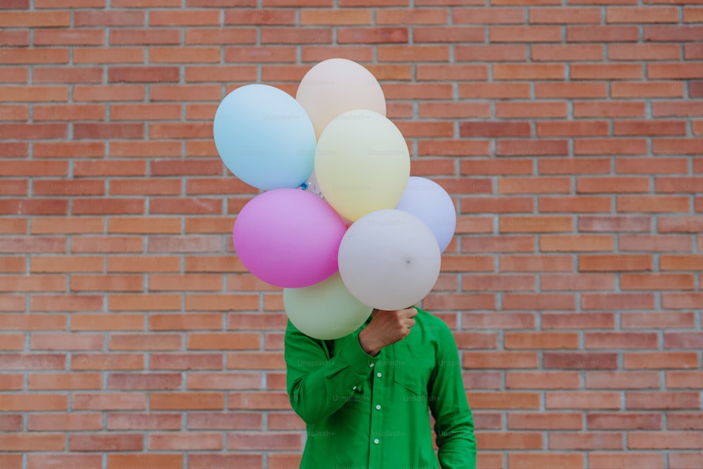
<path id="1" fill-rule="evenodd" d="M 456 211 L 439 184 L 410 176 L 404 136 L 362 65 L 318 63 L 295 99 L 242 86 L 220 104 L 214 138 L 233 174 L 264 190 L 238 214 L 236 252 L 283 287 L 303 333 L 340 338 L 373 308 L 410 307 L 432 290 Z"/>

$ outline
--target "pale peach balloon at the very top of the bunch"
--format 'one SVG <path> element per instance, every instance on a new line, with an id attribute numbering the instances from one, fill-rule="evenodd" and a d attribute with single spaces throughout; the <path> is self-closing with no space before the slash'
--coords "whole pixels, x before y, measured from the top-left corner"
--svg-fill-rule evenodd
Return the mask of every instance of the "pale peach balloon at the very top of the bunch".
<path id="1" fill-rule="evenodd" d="M 349 110 L 386 115 L 386 98 L 378 80 L 363 65 L 346 58 L 323 60 L 308 70 L 295 99 L 310 116 L 318 139 L 331 120 Z"/>

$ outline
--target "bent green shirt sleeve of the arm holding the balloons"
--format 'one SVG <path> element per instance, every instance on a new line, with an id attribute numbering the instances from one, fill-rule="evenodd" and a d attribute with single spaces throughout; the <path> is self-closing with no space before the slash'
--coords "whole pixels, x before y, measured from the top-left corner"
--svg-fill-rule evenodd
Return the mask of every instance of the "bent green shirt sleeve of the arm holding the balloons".
<path id="1" fill-rule="evenodd" d="M 323 340 L 305 335 L 288 321 L 286 387 L 292 409 L 306 423 L 317 423 L 335 413 L 373 371 L 378 356 L 364 352 L 357 333 L 351 339 L 330 358 Z"/>

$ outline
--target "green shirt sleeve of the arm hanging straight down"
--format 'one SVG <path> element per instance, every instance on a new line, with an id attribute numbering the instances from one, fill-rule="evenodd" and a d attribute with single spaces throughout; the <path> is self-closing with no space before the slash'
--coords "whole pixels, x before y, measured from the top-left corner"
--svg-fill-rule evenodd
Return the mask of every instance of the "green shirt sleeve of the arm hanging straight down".
<path id="1" fill-rule="evenodd" d="M 437 363 L 428 386 L 439 464 L 442 469 L 476 469 L 474 421 L 461 377 L 456 341 L 446 325 L 439 330 Z"/>

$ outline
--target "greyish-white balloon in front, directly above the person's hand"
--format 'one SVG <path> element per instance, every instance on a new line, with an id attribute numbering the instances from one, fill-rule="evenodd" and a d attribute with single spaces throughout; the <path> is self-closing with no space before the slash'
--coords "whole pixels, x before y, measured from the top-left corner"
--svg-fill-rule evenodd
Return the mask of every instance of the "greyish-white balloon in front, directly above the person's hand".
<path id="1" fill-rule="evenodd" d="M 349 226 L 340 276 L 359 301 L 384 310 L 422 300 L 439 278 L 441 251 L 424 221 L 403 210 L 376 210 Z"/>

